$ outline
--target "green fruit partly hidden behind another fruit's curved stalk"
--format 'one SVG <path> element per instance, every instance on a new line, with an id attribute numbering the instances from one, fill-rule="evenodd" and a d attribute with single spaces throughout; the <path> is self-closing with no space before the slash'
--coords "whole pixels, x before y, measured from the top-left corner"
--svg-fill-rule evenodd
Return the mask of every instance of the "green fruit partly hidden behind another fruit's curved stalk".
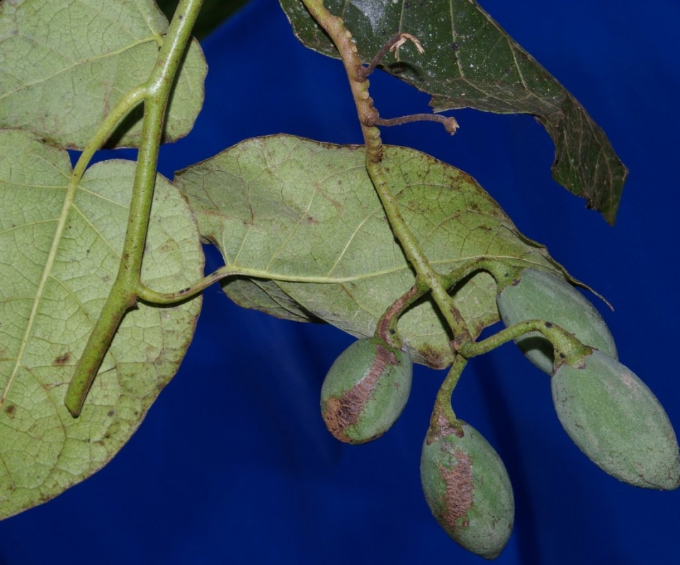
<path id="1" fill-rule="evenodd" d="M 614 338 L 600 313 L 563 278 L 525 269 L 519 280 L 500 292 L 497 304 L 506 326 L 531 319 L 550 321 L 573 333 L 584 345 L 618 358 Z M 534 331 L 516 343 L 531 363 L 548 375 L 553 374 L 553 345 L 547 338 Z"/>

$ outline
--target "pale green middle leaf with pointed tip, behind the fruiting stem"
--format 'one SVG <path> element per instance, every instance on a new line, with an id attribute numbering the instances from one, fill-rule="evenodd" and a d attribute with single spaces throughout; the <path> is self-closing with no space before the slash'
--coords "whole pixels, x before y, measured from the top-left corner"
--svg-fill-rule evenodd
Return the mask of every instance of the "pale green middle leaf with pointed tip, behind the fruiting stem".
<path id="1" fill-rule="evenodd" d="M 246 140 L 178 173 L 201 235 L 239 273 L 225 285 L 229 297 L 274 316 L 373 335 L 414 275 L 364 159 L 363 146 L 278 135 Z M 486 257 L 562 275 L 463 171 L 389 146 L 384 166 L 404 220 L 438 272 Z M 455 304 L 475 335 L 499 319 L 496 284 L 487 273 L 460 285 Z M 450 338 L 429 300 L 404 314 L 399 332 L 414 360 L 450 364 Z"/>

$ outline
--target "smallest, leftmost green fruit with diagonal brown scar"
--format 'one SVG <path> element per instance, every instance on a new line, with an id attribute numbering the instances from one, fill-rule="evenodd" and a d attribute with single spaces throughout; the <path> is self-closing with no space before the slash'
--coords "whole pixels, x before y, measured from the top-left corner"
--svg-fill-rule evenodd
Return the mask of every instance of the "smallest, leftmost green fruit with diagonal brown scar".
<path id="1" fill-rule="evenodd" d="M 355 341 L 331 365 L 321 388 L 330 433 L 345 443 L 379 438 L 404 410 L 412 375 L 408 350 L 375 337 Z"/>

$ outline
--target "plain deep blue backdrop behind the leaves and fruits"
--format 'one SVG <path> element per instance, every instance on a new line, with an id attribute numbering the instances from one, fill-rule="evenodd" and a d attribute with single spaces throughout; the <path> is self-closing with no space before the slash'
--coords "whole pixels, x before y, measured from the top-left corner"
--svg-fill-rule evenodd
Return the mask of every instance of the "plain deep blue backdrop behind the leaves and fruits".
<path id="1" fill-rule="evenodd" d="M 680 5 L 482 4 L 579 99 L 629 167 L 616 227 L 552 180 L 553 146 L 529 116 L 463 110 L 453 138 L 416 124 L 385 129 L 385 142 L 471 173 L 524 234 L 605 295 L 622 362 L 680 430 Z M 191 135 L 164 148 L 166 175 L 255 135 L 361 141 L 341 65 L 302 47 L 275 0 L 251 1 L 204 48 L 205 107 Z M 371 84 L 385 117 L 428 111 L 427 96 L 389 76 Z M 208 270 L 217 264 L 209 253 Z M 419 484 L 442 372 L 416 367 L 402 418 L 374 443 L 341 445 L 325 430 L 319 389 L 351 341 L 329 326 L 239 309 L 211 287 L 186 360 L 140 430 L 91 479 L 0 523 L 0 564 L 481 563 L 439 529 Z M 454 409 L 494 445 L 514 485 L 514 533 L 497 563 L 678 562 L 680 491 L 635 489 L 589 462 L 555 417 L 547 377 L 514 346 L 472 360 Z"/>

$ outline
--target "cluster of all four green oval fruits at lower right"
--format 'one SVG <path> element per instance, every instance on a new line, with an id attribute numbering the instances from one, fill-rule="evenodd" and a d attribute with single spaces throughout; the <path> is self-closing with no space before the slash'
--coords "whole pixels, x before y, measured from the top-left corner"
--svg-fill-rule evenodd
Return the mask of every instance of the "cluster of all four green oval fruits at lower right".
<path id="1" fill-rule="evenodd" d="M 669 418 L 650 389 L 618 362 L 611 333 L 593 304 L 567 280 L 526 268 L 499 283 L 497 305 L 509 330 L 518 324 L 534 328 L 515 341 L 550 375 L 557 418 L 585 455 L 635 486 L 680 486 L 679 448 Z M 324 380 L 321 407 L 328 429 L 346 443 L 378 438 L 402 413 L 411 381 L 407 347 L 395 348 L 379 336 L 356 341 Z M 510 479 L 487 440 L 455 418 L 450 391 L 446 404 L 435 406 L 422 448 L 424 495 L 453 540 L 494 559 L 514 522 Z"/>

